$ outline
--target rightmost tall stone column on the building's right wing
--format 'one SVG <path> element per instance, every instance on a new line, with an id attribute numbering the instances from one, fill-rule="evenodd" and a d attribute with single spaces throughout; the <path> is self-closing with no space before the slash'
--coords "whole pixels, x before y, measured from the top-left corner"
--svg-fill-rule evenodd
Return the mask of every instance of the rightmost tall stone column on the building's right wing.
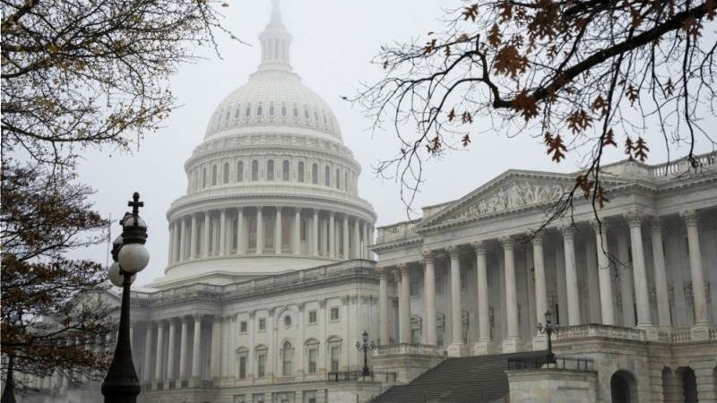
<path id="1" fill-rule="evenodd" d="M 707 316 L 707 298 L 704 293 L 704 272 L 702 269 L 702 253 L 700 252 L 700 236 L 697 227 L 697 213 L 687 210 L 682 214 L 687 226 L 687 248 L 689 250 L 689 272 L 692 279 L 692 297 L 695 306 L 695 327 L 693 339 L 709 338 Z M 695 338 L 696 336 L 696 338 Z"/>

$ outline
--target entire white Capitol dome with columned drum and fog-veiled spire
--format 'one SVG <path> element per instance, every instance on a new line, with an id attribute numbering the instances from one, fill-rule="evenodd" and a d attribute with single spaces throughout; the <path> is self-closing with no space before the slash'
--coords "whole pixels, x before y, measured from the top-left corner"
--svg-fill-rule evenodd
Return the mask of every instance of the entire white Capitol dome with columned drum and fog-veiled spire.
<path id="1" fill-rule="evenodd" d="M 212 114 L 187 159 L 186 195 L 168 210 L 166 276 L 154 287 L 228 284 L 368 259 L 376 213 L 336 117 L 289 63 L 274 2 L 261 63 Z"/>

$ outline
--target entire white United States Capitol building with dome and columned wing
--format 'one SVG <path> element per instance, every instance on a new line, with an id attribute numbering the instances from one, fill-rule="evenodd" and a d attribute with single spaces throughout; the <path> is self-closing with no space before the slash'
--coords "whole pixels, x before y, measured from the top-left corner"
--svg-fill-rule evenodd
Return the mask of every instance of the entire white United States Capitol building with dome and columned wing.
<path id="1" fill-rule="evenodd" d="M 278 9 L 260 39 L 186 160 L 165 275 L 132 295 L 141 401 L 717 401 L 717 154 L 603 167 L 600 220 L 575 200 L 535 233 L 575 174 L 509 170 L 375 229 Z"/>

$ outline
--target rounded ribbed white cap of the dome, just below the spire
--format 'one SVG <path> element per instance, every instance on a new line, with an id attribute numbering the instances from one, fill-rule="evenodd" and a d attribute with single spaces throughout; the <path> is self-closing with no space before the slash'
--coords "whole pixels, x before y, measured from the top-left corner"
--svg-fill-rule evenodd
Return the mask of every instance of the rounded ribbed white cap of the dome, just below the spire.
<path id="1" fill-rule="evenodd" d="M 333 112 L 298 75 L 281 70 L 260 70 L 221 101 L 212 114 L 205 139 L 234 129 L 286 126 L 329 134 L 341 141 Z"/>

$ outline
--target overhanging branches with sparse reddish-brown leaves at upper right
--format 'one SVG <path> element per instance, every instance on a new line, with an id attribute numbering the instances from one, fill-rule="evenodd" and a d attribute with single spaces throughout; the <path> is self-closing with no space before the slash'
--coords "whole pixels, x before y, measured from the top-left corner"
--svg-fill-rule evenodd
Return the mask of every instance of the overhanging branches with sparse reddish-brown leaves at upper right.
<path id="1" fill-rule="evenodd" d="M 649 147 L 687 145 L 695 165 L 697 138 L 714 146 L 714 15 L 715 0 L 463 1 L 444 29 L 382 47 L 384 78 L 350 100 L 397 134 L 400 151 L 376 169 L 409 208 L 426 159 L 481 134 L 529 133 L 549 159 L 583 161 L 551 217 L 574 195 L 597 212 L 606 148 L 644 162 Z"/>

